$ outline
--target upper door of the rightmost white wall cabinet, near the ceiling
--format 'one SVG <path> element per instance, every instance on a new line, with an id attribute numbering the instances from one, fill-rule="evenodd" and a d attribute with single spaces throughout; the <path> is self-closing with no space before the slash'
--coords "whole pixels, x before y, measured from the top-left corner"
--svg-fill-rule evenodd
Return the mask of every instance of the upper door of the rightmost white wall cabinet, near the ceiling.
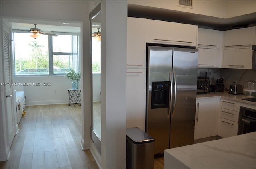
<path id="1" fill-rule="evenodd" d="M 246 47 L 247 45 L 254 45 L 255 28 L 248 27 L 224 31 L 224 47 Z"/>

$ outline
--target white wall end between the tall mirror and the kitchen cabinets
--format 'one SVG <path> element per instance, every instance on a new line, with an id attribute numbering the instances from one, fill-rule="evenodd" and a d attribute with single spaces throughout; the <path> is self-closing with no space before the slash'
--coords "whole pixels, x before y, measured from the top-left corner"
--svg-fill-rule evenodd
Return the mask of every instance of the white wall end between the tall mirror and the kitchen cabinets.
<path id="1" fill-rule="evenodd" d="M 125 169 L 127 2 L 101 3 L 101 163 L 102 169 Z"/>

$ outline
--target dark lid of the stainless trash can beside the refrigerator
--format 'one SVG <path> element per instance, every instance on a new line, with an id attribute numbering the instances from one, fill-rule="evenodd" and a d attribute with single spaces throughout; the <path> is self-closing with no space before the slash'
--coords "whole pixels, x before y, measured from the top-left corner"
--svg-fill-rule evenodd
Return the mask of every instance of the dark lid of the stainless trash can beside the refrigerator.
<path id="1" fill-rule="evenodd" d="M 143 144 L 155 141 L 154 138 L 137 127 L 126 128 L 126 138 L 130 139 L 134 144 Z"/>

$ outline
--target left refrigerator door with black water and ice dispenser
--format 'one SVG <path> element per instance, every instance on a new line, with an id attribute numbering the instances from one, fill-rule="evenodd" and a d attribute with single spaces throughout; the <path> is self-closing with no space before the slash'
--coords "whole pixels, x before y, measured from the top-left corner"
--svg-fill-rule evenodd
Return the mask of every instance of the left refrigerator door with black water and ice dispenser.
<path id="1" fill-rule="evenodd" d="M 152 106 L 151 96 L 157 89 L 158 93 L 166 90 L 166 85 L 170 85 L 170 71 L 172 71 L 172 47 L 148 47 L 147 60 L 147 99 L 146 99 L 146 133 L 155 139 L 154 153 L 164 153 L 164 149 L 169 148 L 170 118 L 168 118 L 169 102 L 167 107 L 159 108 Z M 154 86 L 152 86 L 152 84 Z M 158 85 L 158 86 L 156 86 Z M 168 86 L 170 88 L 170 86 Z M 169 90 L 168 90 L 169 91 Z M 168 94 L 153 95 L 161 99 L 169 99 Z M 168 97 L 168 98 L 162 98 Z"/>

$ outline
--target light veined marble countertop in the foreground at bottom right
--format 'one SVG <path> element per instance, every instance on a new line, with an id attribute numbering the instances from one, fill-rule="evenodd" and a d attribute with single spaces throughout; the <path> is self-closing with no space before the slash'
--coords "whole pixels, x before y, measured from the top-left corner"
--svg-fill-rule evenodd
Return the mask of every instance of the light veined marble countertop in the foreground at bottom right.
<path id="1" fill-rule="evenodd" d="M 164 169 L 256 169 L 256 132 L 167 149 Z"/>

